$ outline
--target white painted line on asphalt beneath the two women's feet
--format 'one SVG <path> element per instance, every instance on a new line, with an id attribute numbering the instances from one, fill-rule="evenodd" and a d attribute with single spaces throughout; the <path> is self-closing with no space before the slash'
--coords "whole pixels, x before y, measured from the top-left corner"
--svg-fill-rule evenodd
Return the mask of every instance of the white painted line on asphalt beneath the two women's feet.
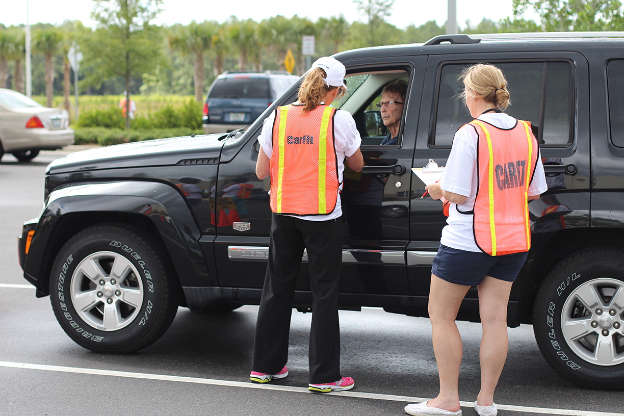
<path id="1" fill-rule="evenodd" d="M 164 375 L 164 374 L 147 374 L 147 373 L 134 373 L 127 371 L 114 371 L 114 370 L 98 370 L 98 369 L 81 369 L 79 367 L 62 367 L 61 365 L 43 365 L 43 364 L 27 364 L 24 362 L 9 362 L 0 361 L 0 367 L 11 367 L 16 369 L 27 370 L 45 370 L 45 371 L 58 371 L 75 374 L 92 374 L 92 375 L 109 375 L 110 377 L 128 377 L 130 379 L 147 379 L 147 380 L 162 380 L 162 381 L 175 381 L 182 383 L 196 383 L 196 384 L 210 384 L 210 385 L 223 385 L 227 387 L 243 387 L 245 389 L 264 389 L 264 390 L 279 390 L 282 392 L 295 392 L 310 394 L 306 387 L 291 387 L 288 385 L 275 385 L 275 384 L 253 384 L 251 382 L 240 381 L 228 381 L 228 380 L 215 380 L 215 379 L 200 379 L 198 377 L 180 377 L 178 375 Z M 378 400 L 391 400 L 393 402 L 410 402 L 417 403 L 423 402 L 422 397 L 409 397 L 409 396 L 397 396 L 391 394 L 374 394 L 364 392 L 354 392 L 349 390 L 346 392 L 333 392 L 331 395 L 341 395 L 344 397 L 359 397 L 361 399 L 378 399 Z M 474 405 L 472 402 L 459 402 L 462 407 L 472 408 Z M 624 413 L 606 413 L 606 412 L 590 412 L 588 410 L 568 410 L 568 409 L 548 409 L 545 407 L 525 407 L 514 406 L 506 404 L 497 404 L 500 410 L 509 410 L 511 412 L 525 412 L 525 413 L 539 413 L 545 415 L 570 415 L 570 416 L 624 416 Z"/>

